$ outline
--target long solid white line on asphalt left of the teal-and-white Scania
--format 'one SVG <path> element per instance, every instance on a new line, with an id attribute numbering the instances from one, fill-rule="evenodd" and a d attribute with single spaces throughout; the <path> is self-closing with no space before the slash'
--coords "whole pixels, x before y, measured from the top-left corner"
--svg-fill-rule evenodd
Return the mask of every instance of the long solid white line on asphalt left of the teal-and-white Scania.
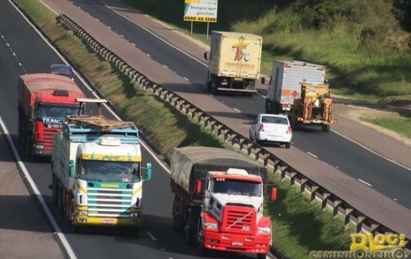
<path id="1" fill-rule="evenodd" d="M 56 230 L 57 237 L 59 237 L 61 244 L 63 244 L 64 249 L 65 251 L 67 251 L 69 258 L 72 258 L 72 259 L 77 258 L 75 255 L 75 252 L 72 251 L 70 244 L 68 244 L 68 241 L 65 239 L 64 234 L 61 232 L 61 229 L 59 225 L 57 224 L 56 220 L 54 219 L 52 212 L 50 212 L 49 207 L 47 207 L 44 198 L 42 198 L 42 195 L 40 194 L 40 191 L 38 190 L 36 184 L 31 178 L 29 171 L 27 171 L 26 166 L 24 166 L 24 163 L 22 162 L 22 158 L 20 157 L 19 152 L 17 152 L 17 148 L 13 142 L 13 139 L 11 139 L 10 132 L 8 132 L 8 129 L 6 125 L 4 124 L 3 119 L 1 117 L 0 117 L 0 127 L 3 130 L 4 134 L 6 135 L 6 138 L 7 138 L 8 143 L 10 144 L 11 150 L 13 151 L 13 154 L 15 155 L 17 165 L 22 170 L 24 177 L 26 178 L 27 182 L 29 182 L 31 189 L 33 189 L 33 193 L 38 198 L 38 201 L 40 202 L 42 209 L 47 215 L 47 218 L 49 219 L 50 223 L 52 223 L 54 230 Z"/>

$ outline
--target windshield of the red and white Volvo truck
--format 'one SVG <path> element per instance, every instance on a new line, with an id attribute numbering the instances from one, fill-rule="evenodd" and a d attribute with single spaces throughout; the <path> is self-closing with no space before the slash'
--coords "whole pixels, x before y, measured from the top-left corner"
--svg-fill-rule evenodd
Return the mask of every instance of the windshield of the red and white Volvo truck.
<path id="1" fill-rule="evenodd" d="M 261 182 L 245 182 L 232 179 L 214 180 L 212 192 L 215 194 L 261 196 Z"/>

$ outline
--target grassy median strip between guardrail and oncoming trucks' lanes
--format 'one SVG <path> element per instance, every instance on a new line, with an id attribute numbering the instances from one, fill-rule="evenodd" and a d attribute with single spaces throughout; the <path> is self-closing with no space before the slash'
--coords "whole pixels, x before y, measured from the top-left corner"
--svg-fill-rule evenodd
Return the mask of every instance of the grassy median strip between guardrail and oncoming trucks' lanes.
<path id="1" fill-rule="evenodd" d="M 224 147 L 215 134 L 181 115 L 173 107 L 134 84 L 104 61 L 79 38 L 56 24 L 55 16 L 39 1 L 15 0 L 49 38 L 82 69 L 100 91 L 128 118 L 144 130 L 150 141 L 169 156 L 176 146 Z M 308 258 L 311 250 L 346 250 L 349 232 L 343 231 L 343 219 L 310 205 L 289 182 L 280 182 L 279 200 L 267 205 L 273 219 L 273 240 L 281 253 L 290 258 Z"/>

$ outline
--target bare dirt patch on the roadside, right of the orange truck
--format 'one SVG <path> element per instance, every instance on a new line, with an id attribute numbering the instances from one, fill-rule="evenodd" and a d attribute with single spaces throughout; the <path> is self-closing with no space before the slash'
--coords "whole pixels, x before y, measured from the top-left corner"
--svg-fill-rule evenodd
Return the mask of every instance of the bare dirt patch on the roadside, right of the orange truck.
<path id="1" fill-rule="evenodd" d="M 334 111 L 336 111 L 336 113 L 339 113 L 339 115 L 345 118 L 354 120 L 355 122 L 361 123 L 362 125 L 366 125 L 367 127 L 371 127 L 382 134 L 387 134 L 393 137 L 394 139 L 401 141 L 402 143 L 405 143 L 408 146 L 411 146 L 411 139 L 408 139 L 405 136 L 402 136 L 392 130 L 388 130 L 384 127 L 380 127 L 378 125 L 374 125 L 372 123 L 364 121 L 364 118 L 398 118 L 398 120 L 401 120 L 400 114 L 396 111 L 390 111 L 388 108 L 371 109 L 369 107 L 359 107 L 351 104 L 334 104 Z"/>

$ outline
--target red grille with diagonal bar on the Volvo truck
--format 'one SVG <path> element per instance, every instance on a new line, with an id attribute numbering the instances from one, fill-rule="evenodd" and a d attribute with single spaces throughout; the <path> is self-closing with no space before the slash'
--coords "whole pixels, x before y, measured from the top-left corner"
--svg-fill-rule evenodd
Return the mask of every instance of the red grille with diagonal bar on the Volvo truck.
<path id="1" fill-rule="evenodd" d="M 255 233 L 256 209 L 254 207 L 226 205 L 222 228 L 230 233 Z"/>

